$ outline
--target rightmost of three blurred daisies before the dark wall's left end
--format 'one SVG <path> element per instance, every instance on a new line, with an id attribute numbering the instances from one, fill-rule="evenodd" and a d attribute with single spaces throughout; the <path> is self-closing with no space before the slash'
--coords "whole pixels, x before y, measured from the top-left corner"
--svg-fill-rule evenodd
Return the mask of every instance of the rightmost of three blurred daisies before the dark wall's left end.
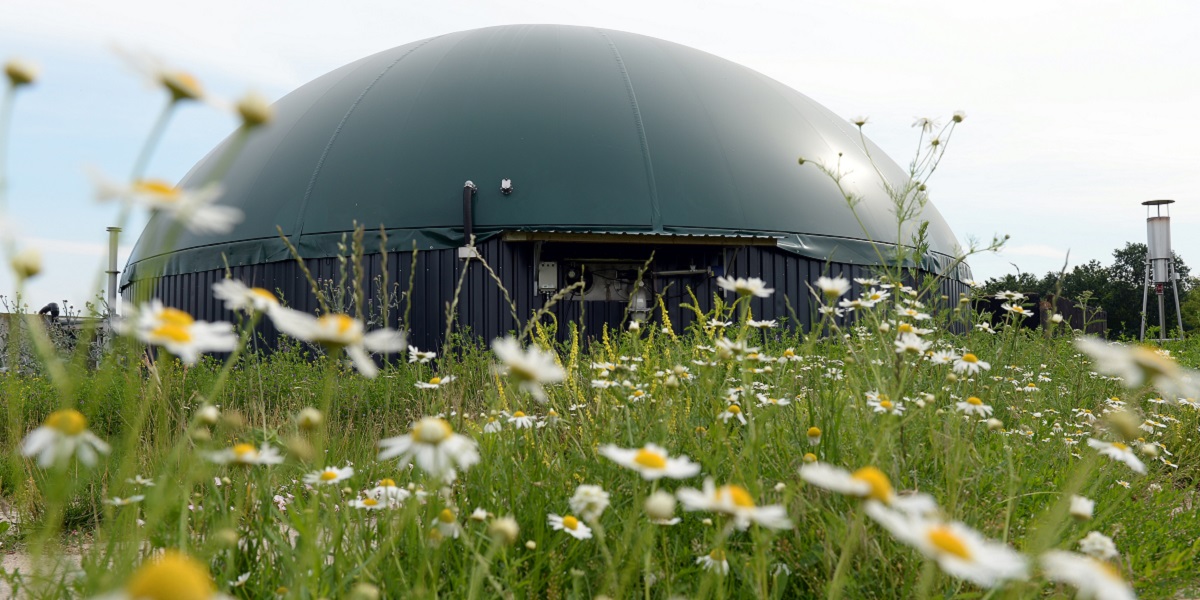
<path id="1" fill-rule="evenodd" d="M 354 362 L 354 368 L 368 379 L 379 374 L 379 367 L 367 353 L 390 354 L 403 352 L 407 346 L 403 332 L 395 329 L 377 329 L 367 334 L 362 322 L 349 314 L 329 313 L 313 317 L 306 312 L 280 307 L 271 311 L 270 316 L 280 331 L 296 340 L 343 348 L 346 355 Z"/>

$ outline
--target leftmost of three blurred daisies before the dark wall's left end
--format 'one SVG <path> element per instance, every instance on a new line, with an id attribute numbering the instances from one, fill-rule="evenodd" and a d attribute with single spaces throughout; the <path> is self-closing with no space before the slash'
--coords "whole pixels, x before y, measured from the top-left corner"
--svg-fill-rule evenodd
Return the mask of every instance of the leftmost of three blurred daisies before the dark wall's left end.
<path id="1" fill-rule="evenodd" d="M 139 307 L 125 305 L 126 317 L 113 329 L 152 346 L 161 346 L 185 365 L 194 365 L 205 352 L 233 352 L 238 334 L 232 323 L 196 320 L 191 314 L 151 300 Z"/>

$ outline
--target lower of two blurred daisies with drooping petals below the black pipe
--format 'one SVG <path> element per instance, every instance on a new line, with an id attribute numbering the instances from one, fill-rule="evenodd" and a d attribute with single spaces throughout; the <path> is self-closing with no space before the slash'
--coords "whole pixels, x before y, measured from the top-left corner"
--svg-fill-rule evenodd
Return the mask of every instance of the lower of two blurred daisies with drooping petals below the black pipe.
<path id="1" fill-rule="evenodd" d="M 457 479 L 457 469 L 479 462 L 479 451 L 474 440 L 455 433 L 445 420 L 426 416 L 409 433 L 379 440 L 378 460 L 396 457 L 401 467 L 415 461 L 421 470 L 449 484 Z"/>

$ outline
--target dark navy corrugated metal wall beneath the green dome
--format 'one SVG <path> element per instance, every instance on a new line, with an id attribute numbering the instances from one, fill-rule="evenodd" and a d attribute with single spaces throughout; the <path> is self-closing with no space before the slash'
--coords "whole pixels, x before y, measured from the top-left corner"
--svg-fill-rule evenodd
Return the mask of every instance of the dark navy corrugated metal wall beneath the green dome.
<path id="1" fill-rule="evenodd" d="M 678 248 L 676 248 L 678 250 Z M 534 263 L 535 246 L 530 242 L 503 242 L 498 238 L 479 245 L 482 258 L 496 271 L 497 277 L 511 294 L 516 304 L 516 316 L 528 319 L 533 311 L 544 306 L 546 298 L 536 293 L 536 266 Z M 649 254 L 649 246 L 647 247 Z M 822 275 L 845 276 L 847 278 L 865 277 L 870 268 L 845 263 L 822 263 L 804 258 L 773 247 L 696 247 L 689 253 L 690 262 L 697 264 L 720 264 L 725 272 L 737 277 L 761 277 L 769 287 L 775 288 L 770 298 L 755 299 L 751 311 L 757 319 L 797 320 L 805 328 L 811 325 L 814 306 L 810 282 Z M 670 253 L 655 258 L 656 270 L 686 268 L 686 264 L 670 264 Z M 313 277 L 319 281 L 340 281 L 340 263 L 336 258 L 305 260 Z M 368 282 L 367 298 L 371 299 L 372 313 L 379 314 L 382 296 L 379 283 L 383 275 L 383 257 L 367 254 L 364 257 L 364 275 Z M 388 325 L 398 326 L 407 302 L 412 302 L 409 322 L 412 323 L 410 341 L 421 348 L 436 348 L 442 343 L 445 331 L 446 307 L 454 301 L 455 288 L 462 270 L 468 266 L 457 301 L 456 330 L 469 328 L 473 332 L 492 338 L 517 329 L 512 319 L 512 310 L 504 299 L 498 284 L 487 274 L 484 265 L 475 260 L 466 262 L 457 258 L 455 250 L 434 250 L 418 252 L 415 277 L 413 277 L 412 298 L 407 298 L 408 281 L 412 274 L 412 253 L 396 252 L 388 256 L 388 281 L 392 289 L 395 306 L 389 311 Z M 314 295 L 299 265 L 294 260 L 233 266 L 232 277 L 250 286 L 277 292 L 289 306 L 301 311 L 314 312 L 318 308 Z M 235 316 L 212 296 L 212 283 L 224 277 L 223 270 L 186 274 L 163 277 L 156 283 L 156 292 L 142 298 L 158 298 L 167 306 L 187 311 L 203 320 L 233 320 Z M 671 322 L 677 331 L 691 325 L 696 317 L 680 304 L 690 304 L 686 293 L 690 287 L 700 300 L 701 310 L 712 308 L 713 294 L 721 294 L 715 278 L 708 276 L 673 276 L 653 278 L 654 292 L 666 289 L 666 300 Z M 667 283 L 671 283 L 668 287 Z M 139 281 L 122 290 L 127 300 L 138 298 L 151 282 Z M 942 294 L 956 301 L 960 293 L 966 292 L 966 284 L 944 280 Z M 858 294 L 860 286 L 854 283 L 852 294 Z M 347 298 L 349 292 L 347 293 Z M 732 294 L 725 296 L 732 301 Z M 581 323 L 589 334 L 598 335 L 605 324 L 610 328 L 620 326 L 625 316 L 624 301 L 587 301 L 563 300 L 552 310 L 566 330 L 566 323 Z M 656 311 L 655 311 L 656 313 Z M 376 324 L 378 326 L 378 322 Z M 263 331 L 266 340 L 274 340 L 276 332 L 266 326 Z"/>

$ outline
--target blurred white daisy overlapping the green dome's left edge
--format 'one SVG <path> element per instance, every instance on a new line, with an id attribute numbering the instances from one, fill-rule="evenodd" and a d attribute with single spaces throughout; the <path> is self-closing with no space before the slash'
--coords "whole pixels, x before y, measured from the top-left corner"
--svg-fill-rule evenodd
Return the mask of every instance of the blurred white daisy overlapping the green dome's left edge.
<path id="1" fill-rule="evenodd" d="M 222 193 L 217 184 L 197 190 L 181 190 L 160 179 L 121 185 L 96 172 L 91 173 L 91 179 L 96 199 L 119 200 L 127 206 L 161 212 L 193 233 L 229 233 L 244 218 L 241 210 L 215 204 Z"/>

